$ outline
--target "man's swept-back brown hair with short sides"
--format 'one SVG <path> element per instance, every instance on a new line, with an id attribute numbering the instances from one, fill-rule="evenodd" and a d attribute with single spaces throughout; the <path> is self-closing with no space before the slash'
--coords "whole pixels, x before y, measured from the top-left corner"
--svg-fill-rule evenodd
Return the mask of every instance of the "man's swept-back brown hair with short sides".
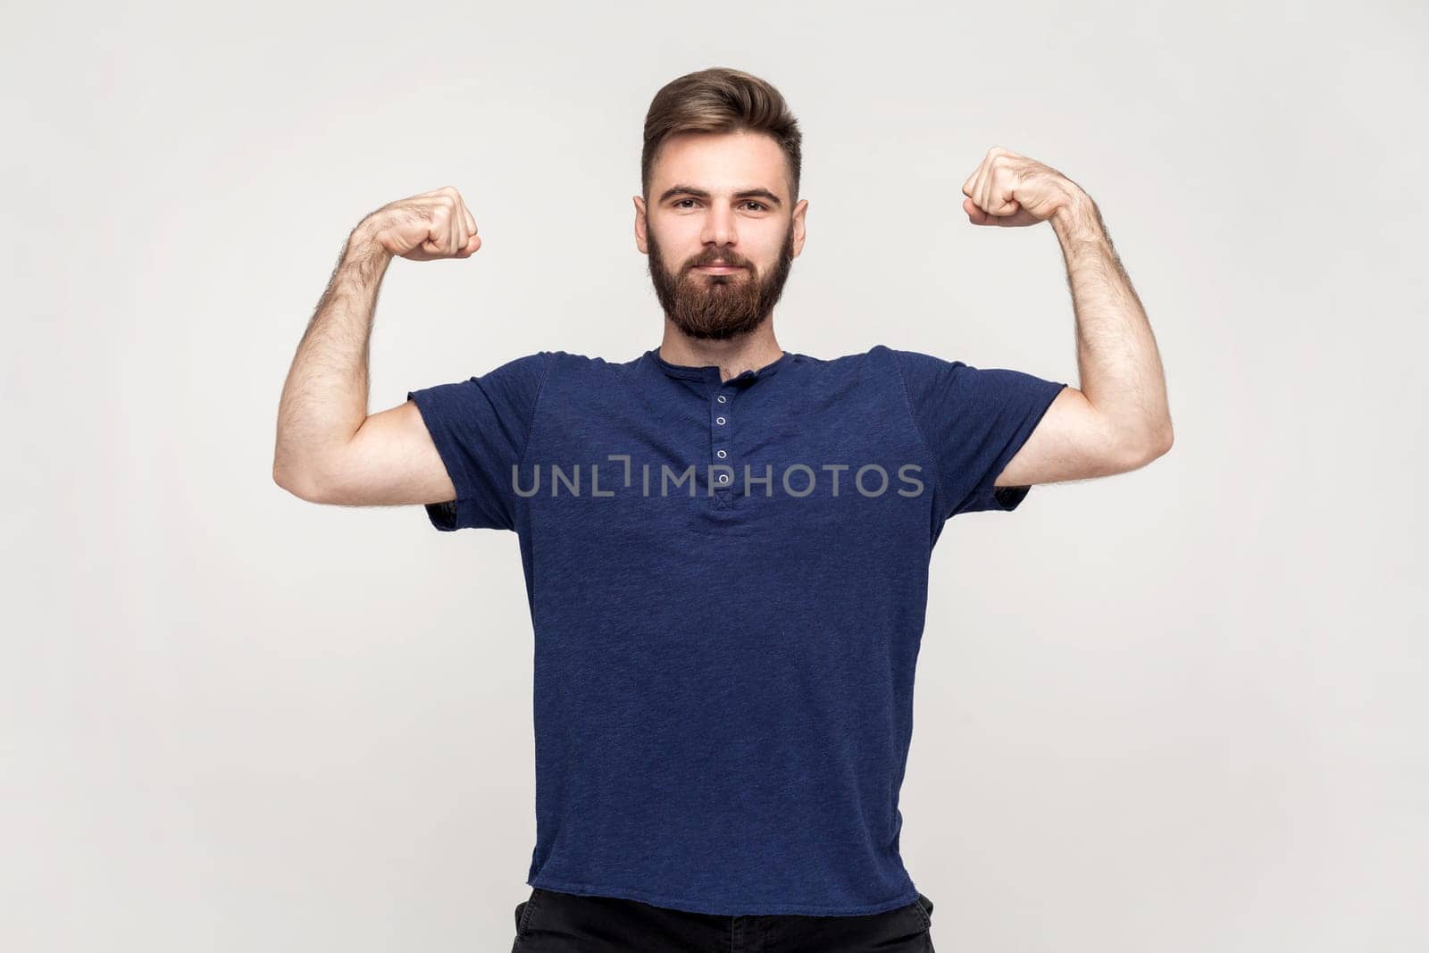
<path id="1" fill-rule="evenodd" d="M 650 169 L 660 146 L 679 133 L 765 133 L 789 160 L 790 203 L 799 197 L 803 134 L 799 120 L 773 86 L 727 67 L 710 67 L 670 80 L 650 100 L 640 151 L 640 190 L 650 199 Z"/>

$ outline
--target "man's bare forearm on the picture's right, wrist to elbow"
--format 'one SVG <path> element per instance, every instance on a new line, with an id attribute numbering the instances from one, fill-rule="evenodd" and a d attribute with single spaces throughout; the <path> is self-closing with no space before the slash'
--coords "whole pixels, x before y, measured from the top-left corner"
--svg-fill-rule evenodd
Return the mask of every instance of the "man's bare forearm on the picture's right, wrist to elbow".
<path id="1" fill-rule="evenodd" d="M 1100 211 L 1089 196 L 1075 193 L 1052 216 L 1052 227 L 1072 289 L 1080 390 L 1126 440 L 1129 453 L 1163 453 L 1172 440 L 1166 376 Z"/>

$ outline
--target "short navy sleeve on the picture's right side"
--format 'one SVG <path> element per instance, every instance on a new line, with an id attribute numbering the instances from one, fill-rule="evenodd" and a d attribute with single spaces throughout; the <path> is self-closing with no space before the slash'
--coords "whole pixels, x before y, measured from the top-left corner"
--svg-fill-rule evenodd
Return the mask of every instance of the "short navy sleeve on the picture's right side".
<path id="1" fill-rule="evenodd" d="M 913 417 L 937 466 L 939 516 L 1012 512 L 1030 486 L 993 486 L 1065 383 L 895 350 Z"/>

